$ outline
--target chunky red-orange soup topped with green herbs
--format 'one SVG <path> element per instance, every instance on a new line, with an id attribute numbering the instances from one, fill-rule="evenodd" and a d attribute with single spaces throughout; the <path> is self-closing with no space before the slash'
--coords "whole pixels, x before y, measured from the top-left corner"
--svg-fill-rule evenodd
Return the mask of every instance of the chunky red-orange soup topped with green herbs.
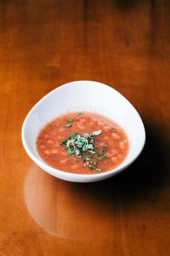
<path id="1" fill-rule="evenodd" d="M 115 169 L 127 156 L 124 130 L 96 113 L 67 113 L 40 130 L 40 157 L 55 169 L 76 174 L 98 174 Z"/>

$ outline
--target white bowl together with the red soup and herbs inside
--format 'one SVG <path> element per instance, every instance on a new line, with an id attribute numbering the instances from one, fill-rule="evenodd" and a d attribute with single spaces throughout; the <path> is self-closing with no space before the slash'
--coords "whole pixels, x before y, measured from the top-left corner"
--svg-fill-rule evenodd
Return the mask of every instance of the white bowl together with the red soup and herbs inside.
<path id="1" fill-rule="evenodd" d="M 137 159 L 145 143 L 142 120 L 113 88 L 70 82 L 44 96 L 22 127 L 23 146 L 44 171 L 67 181 L 112 177 Z"/>

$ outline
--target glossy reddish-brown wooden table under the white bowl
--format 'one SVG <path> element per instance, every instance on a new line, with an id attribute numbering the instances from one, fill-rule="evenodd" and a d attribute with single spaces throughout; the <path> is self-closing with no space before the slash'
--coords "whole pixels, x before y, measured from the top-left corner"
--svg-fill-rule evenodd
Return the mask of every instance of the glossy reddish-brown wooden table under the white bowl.
<path id="1" fill-rule="evenodd" d="M 170 255 L 170 2 L 1 0 L 0 256 Z M 103 82 L 146 128 L 141 156 L 109 180 L 59 180 L 21 128 L 66 82 Z"/>

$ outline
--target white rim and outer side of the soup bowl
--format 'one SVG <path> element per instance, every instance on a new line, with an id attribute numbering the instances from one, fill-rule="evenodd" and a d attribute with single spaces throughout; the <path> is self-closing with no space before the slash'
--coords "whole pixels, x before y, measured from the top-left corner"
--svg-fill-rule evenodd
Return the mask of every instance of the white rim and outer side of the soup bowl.
<path id="1" fill-rule="evenodd" d="M 72 84 L 75 83 L 82 83 L 82 82 L 91 82 L 91 83 L 97 83 L 103 86 L 107 86 L 110 89 L 113 89 L 116 93 L 120 94 L 121 97 L 124 98 L 124 100 L 126 100 L 128 102 L 128 104 L 131 105 L 131 107 L 133 108 L 133 110 L 137 113 L 138 118 L 141 122 L 141 131 L 143 134 L 143 141 L 142 144 L 139 148 L 139 150 L 137 151 L 136 155 L 126 164 L 123 165 L 124 162 L 122 162 L 122 164 L 120 164 L 119 166 L 117 166 L 115 169 L 106 171 L 106 172 L 101 172 L 101 173 L 97 173 L 97 174 L 75 174 L 75 173 L 71 173 L 71 172 L 65 172 L 62 170 L 58 170 L 55 169 L 51 166 L 49 166 L 48 164 L 46 164 L 43 159 L 42 161 L 40 161 L 36 156 L 34 156 L 34 154 L 31 152 L 31 150 L 29 149 L 27 142 L 26 142 L 26 137 L 25 137 L 25 129 L 26 129 L 26 125 L 27 125 L 27 120 L 29 118 L 29 116 L 31 116 L 32 112 L 36 109 L 36 107 L 39 105 L 40 102 L 42 102 L 46 97 L 49 97 L 50 94 L 53 94 L 54 91 L 60 90 L 61 87 L 65 87 L 65 86 L 71 86 Z M 145 132 L 145 128 L 144 128 L 144 124 L 142 122 L 141 117 L 139 116 L 139 113 L 137 112 L 136 108 L 133 107 L 133 105 L 130 103 L 130 101 L 127 100 L 127 98 L 125 98 L 119 91 L 115 90 L 113 87 L 103 84 L 101 82 L 97 82 L 97 81 L 90 81 L 90 80 L 78 80 L 78 81 L 71 81 L 71 82 L 67 82 L 66 84 L 60 85 L 58 87 L 56 87 L 55 89 L 53 89 L 52 91 L 48 92 L 48 94 L 46 94 L 45 96 L 43 96 L 32 108 L 31 110 L 28 112 L 26 118 L 24 119 L 23 125 L 22 125 L 22 131 L 21 131 L 21 138 L 22 138 L 22 143 L 23 143 L 23 147 L 26 150 L 26 153 L 28 154 L 28 156 L 35 162 L 35 164 L 37 164 L 40 168 L 42 168 L 44 171 L 48 172 L 49 174 L 58 177 L 62 180 L 67 180 L 67 181 L 74 181 L 74 182 L 93 182 L 93 181 L 99 181 L 99 180 L 104 180 L 104 178 L 110 178 L 113 177 L 114 175 L 118 174 L 119 172 L 123 171 L 124 169 L 126 169 L 128 166 L 130 166 L 137 158 L 138 156 L 141 154 L 145 142 L 146 142 L 146 132 Z M 52 174 L 53 173 L 53 174 Z M 56 174 L 56 175 L 55 175 Z M 58 174 L 58 175 L 57 175 Z M 69 179 L 68 179 L 69 178 Z M 79 178 L 79 180 L 81 181 L 77 181 Z M 84 181 L 86 180 L 86 181 Z M 88 180 L 88 181 L 87 181 Z"/>

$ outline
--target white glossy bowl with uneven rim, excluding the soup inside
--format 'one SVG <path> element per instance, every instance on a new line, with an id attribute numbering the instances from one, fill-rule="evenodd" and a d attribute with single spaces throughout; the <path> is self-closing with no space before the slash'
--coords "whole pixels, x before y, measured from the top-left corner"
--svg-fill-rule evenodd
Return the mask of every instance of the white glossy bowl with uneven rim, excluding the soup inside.
<path id="1" fill-rule="evenodd" d="M 122 164 L 108 172 L 72 174 L 45 164 L 36 150 L 36 138 L 42 127 L 67 112 L 97 112 L 122 127 L 130 149 Z M 142 120 L 131 103 L 113 88 L 94 81 L 75 81 L 62 85 L 44 96 L 28 113 L 22 127 L 23 146 L 30 158 L 44 171 L 62 180 L 94 182 L 110 178 L 126 169 L 141 153 L 145 143 Z"/>

